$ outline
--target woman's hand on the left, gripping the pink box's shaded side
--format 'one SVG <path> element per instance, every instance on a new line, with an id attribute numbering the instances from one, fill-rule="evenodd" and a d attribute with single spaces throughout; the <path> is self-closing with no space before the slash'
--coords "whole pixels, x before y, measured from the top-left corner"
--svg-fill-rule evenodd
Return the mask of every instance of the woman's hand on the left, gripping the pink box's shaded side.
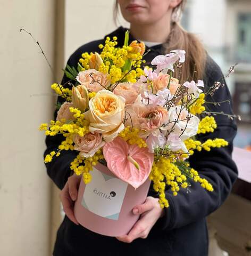
<path id="1" fill-rule="evenodd" d="M 68 178 L 68 181 L 65 183 L 64 188 L 61 190 L 60 199 L 63 204 L 63 209 L 66 216 L 74 222 L 76 225 L 79 225 L 73 213 L 74 201 L 76 201 L 78 196 L 78 188 L 81 181 L 81 175 L 73 174 Z"/>

